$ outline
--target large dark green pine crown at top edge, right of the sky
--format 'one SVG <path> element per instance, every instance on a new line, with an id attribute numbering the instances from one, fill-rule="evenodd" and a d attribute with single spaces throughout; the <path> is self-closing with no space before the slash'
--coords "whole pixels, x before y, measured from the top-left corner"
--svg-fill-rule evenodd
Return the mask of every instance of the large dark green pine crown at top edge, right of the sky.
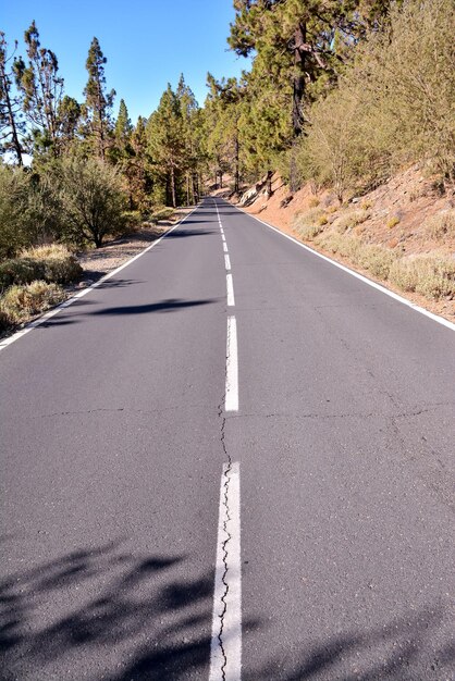
<path id="1" fill-rule="evenodd" d="M 263 90 L 280 88 L 285 95 L 290 134 L 298 137 L 313 89 L 309 84 L 321 77 L 334 83 L 342 61 L 336 46 L 355 45 L 389 5 L 389 0 L 234 0 L 229 42 L 244 57 L 255 52 L 251 78 L 262 79 Z M 279 119 L 281 99 L 273 101 L 270 91 L 267 97 Z"/>

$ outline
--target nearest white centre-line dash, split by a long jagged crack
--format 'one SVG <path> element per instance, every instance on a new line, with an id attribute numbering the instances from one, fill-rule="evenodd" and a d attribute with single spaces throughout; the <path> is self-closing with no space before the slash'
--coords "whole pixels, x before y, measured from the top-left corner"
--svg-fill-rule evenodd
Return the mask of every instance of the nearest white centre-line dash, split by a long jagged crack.
<path id="1" fill-rule="evenodd" d="M 209 681 L 241 681 L 241 475 L 235 461 L 224 463 L 221 475 Z"/>

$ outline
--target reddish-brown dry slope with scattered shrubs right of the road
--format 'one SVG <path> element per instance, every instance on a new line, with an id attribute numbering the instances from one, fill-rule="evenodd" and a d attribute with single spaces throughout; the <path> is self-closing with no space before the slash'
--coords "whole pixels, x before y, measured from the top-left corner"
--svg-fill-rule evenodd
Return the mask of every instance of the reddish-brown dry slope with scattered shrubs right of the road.
<path id="1" fill-rule="evenodd" d="M 405 294 L 417 305 L 455 321 L 455 193 L 444 193 L 417 165 L 394 175 L 373 191 L 352 197 L 343 206 L 329 190 L 315 191 L 309 183 L 290 195 L 276 174 L 271 196 L 259 184 L 245 191 L 237 205 Z M 358 247 L 367 247 L 370 258 L 365 252 L 360 257 Z M 396 276 L 390 278 L 388 270 L 398 261 L 427 269 L 429 262 L 443 263 L 444 270 L 442 274 L 427 273 L 431 282 L 423 286 L 422 295 L 422 286 L 410 290 L 411 283 L 406 281 L 404 285 Z"/>

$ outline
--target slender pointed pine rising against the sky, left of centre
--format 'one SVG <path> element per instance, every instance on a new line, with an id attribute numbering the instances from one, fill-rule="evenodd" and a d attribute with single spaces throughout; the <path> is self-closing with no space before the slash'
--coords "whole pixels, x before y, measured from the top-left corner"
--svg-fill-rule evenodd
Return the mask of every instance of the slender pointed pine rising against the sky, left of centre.
<path id="1" fill-rule="evenodd" d="M 106 91 L 104 64 L 107 61 L 98 38 L 95 37 L 85 64 L 88 72 L 88 81 L 84 89 L 85 115 L 95 152 L 102 160 L 106 159 L 106 151 L 110 145 L 112 128 L 110 110 L 115 96 L 115 90 Z"/>

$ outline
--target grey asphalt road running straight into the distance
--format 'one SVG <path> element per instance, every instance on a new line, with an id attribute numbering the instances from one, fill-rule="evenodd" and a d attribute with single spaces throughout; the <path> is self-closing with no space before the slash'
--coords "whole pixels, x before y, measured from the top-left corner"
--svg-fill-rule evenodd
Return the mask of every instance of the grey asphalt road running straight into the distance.
<path id="1" fill-rule="evenodd" d="M 455 678 L 453 330 L 206 198 L 0 389 L 1 679 Z"/>

